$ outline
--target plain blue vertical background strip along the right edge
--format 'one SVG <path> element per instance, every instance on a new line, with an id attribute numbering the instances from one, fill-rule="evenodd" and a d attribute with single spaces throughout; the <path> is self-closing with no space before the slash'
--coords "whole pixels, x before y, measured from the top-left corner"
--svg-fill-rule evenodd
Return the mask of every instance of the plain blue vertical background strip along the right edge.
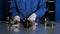
<path id="1" fill-rule="evenodd" d="M 55 21 L 60 21 L 60 0 L 56 0 L 55 2 Z"/>

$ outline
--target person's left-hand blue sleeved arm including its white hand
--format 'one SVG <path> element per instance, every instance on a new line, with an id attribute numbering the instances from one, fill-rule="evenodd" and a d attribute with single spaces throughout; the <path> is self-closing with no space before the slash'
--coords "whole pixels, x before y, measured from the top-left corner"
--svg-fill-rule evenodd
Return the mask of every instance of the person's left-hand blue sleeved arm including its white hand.
<path id="1" fill-rule="evenodd" d="M 10 12 L 12 14 L 12 16 L 14 16 L 14 21 L 20 21 L 20 17 L 18 16 L 18 12 L 17 12 L 17 7 L 16 4 L 14 2 L 15 0 L 11 0 L 10 1 Z"/>

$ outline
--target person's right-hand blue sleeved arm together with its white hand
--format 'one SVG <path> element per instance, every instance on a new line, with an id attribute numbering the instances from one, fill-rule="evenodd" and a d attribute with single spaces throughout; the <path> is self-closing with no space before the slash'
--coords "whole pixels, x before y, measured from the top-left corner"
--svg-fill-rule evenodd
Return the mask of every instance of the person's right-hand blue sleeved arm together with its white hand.
<path id="1" fill-rule="evenodd" d="M 33 13 L 31 16 L 29 16 L 28 20 L 35 21 L 37 17 L 42 17 L 45 14 L 46 12 L 45 0 L 40 0 L 38 7 L 39 9 L 35 13 Z"/>

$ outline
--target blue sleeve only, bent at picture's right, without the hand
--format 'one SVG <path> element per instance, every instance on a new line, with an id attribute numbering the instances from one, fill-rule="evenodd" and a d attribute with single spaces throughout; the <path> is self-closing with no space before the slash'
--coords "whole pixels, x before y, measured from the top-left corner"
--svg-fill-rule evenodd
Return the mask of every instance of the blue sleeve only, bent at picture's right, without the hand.
<path id="1" fill-rule="evenodd" d="M 36 17 L 42 17 L 46 12 L 46 0 L 40 0 L 39 10 L 36 11 Z"/>

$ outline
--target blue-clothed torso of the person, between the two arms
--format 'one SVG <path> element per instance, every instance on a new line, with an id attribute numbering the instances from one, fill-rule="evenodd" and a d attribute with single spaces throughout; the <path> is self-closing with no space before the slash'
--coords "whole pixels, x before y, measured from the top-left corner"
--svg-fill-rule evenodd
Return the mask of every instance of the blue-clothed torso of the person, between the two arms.
<path id="1" fill-rule="evenodd" d="M 18 9 L 24 15 L 24 17 L 35 12 L 37 10 L 40 0 L 16 0 Z"/>

